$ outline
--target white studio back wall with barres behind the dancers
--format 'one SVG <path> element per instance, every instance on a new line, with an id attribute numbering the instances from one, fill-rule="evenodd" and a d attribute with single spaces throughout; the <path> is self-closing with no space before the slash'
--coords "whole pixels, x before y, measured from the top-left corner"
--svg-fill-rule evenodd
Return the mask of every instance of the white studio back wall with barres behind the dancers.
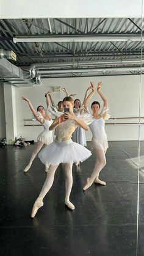
<path id="1" fill-rule="evenodd" d="M 79 98 L 82 101 L 90 81 L 94 81 L 95 85 L 97 85 L 98 81 L 103 82 L 102 91 L 109 100 L 111 117 L 139 117 L 140 76 L 43 79 L 42 84 L 39 86 L 28 88 L 15 87 L 18 135 L 37 141 L 38 134 L 43 130 L 41 126 L 24 126 L 24 119 L 31 119 L 32 114 L 28 104 L 21 100 L 21 96 L 29 98 L 35 108 L 40 104 L 46 106 L 45 92 L 54 86 L 61 86 L 66 87 L 69 93 L 76 93 L 76 97 L 74 98 Z M 64 92 L 52 92 L 52 98 L 55 103 L 62 100 L 63 97 L 65 97 Z M 92 101 L 94 100 L 98 100 L 101 106 L 103 105 L 98 94 L 92 98 Z M 144 109 L 143 103 L 142 109 Z M 113 123 L 113 120 L 108 120 L 107 122 Z M 139 119 L 121 119 L 119 121 L 115 120 L 114 122 L 139 122 Z M 143 126 L 141 131 L 143 131 Z M 109 141 L 137 141 L 139 126 L 132 124 L 106 125 L 106 133 Z M 90 131 L 86 132 L 86 137 L 87 141 L 91 140 L 92 135 Z M 143 139 L 144 133 L 141 132 L 141 140 Z"/>

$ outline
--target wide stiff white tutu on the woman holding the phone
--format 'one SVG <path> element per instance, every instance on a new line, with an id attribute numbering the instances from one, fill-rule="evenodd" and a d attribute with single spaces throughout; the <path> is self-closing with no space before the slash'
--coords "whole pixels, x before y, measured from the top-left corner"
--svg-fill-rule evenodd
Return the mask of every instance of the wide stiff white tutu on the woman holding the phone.
<path id="1" fill-rule="evenodd" d="M 56 166 L 60 163 L 83 162 L 91 155 L 90 150 L 70 139 L 68 141 L 58 142 L 56 140 L 52 142 L 48 147 L 41 150 L 38 157 L 46 166 Z"/>

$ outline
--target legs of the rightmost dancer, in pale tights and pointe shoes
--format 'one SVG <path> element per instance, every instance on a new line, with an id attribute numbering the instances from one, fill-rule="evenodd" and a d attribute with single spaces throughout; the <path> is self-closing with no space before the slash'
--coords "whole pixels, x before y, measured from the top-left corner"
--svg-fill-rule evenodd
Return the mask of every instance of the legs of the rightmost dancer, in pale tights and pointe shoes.
<path id="1" fill-rule="evenodd" d="M 95 183 L 98 183 L 100 185 L 106 185 L 106 182 L 99 180 L 99 172 L 103 169 L 103 167 L 106 165 L 106 156 L 103 150 L 95 148 L 95 155 L 96 155 L 96 162 L 95 167 L 93 169 L 92 175 L 90 178 L 87 178 L 87 183 L 84 186 L 84 190 L 88 189 L 93 181 L 95 180 Z"/>

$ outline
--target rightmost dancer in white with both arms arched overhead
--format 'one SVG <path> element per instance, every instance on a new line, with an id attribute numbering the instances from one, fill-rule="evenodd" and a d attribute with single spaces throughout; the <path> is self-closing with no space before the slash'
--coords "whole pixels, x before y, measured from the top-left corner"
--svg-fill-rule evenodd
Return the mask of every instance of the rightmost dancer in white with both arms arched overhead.
<path id="1" fill-rule="evenodd" d="M 90 82 L 92 92 L 90 95 L 88 95 L 87 99 L 85 100 L 85 108 L 88 109 L 88 102 L 94 95 L 96 89 L 93 85 L 93 82 Z M 106 182 L 99 180 L 99 172 L 103 169 L 103 167 L 106 165 L 106 150 L 109 147 L 107 143 L 107 135 L 104 130 L 105 121 L 107 119 L 107 107 L 108 107 L 108 101 L 107 98 L 104 96 L 104 94 L 101 92 L 101 86 L 102 82 L 98 82 L 97 92 L 104 101 L 103 110 L 99 114 L 100 104 L 98 101 L 93 101 L 92 103 L 92 112 L 94 120 L 89 125 L 90 130 L 92 131 L 92 147 L 95 152 L 96 156 L 96 162 L 95 167 L 93 169 L 92 175 L 90 178 L 87 178 L 87 183 L 84 186 L 84 190 L 88 189 L 93 181 L 95 183 L 98 183 L 100 185 L 106 185 Z"/>

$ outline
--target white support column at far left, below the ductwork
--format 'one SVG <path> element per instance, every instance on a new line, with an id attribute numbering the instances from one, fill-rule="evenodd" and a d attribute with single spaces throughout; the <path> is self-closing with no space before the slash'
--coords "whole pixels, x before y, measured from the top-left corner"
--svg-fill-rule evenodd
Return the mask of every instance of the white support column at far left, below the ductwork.
<path id="1" fill-rule="evenodd" d="M 12 144 L 12 139 L 17 136 L 16 126 L 16 105 L 15 86 L 9 82 L 4 82 L 4 106 L 5 106 L 5 126 L 7 144 Z"/>

